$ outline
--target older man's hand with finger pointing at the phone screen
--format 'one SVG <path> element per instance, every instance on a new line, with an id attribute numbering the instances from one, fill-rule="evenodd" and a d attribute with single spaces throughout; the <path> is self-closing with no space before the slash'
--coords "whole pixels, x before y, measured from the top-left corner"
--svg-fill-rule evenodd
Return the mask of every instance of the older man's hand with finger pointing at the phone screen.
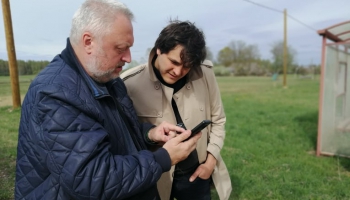
<path id="1" fill-rule="evenodd" d="M 163 145 L 170 139 L 176 137 L 177 133 L 182 133 L 184 131 L 185 129 L 179 126 L 170 124 L 168 122 L 162 122 L 148 132 L 148 138 L 151 141 L 158 143 L 159 145 Z"/>

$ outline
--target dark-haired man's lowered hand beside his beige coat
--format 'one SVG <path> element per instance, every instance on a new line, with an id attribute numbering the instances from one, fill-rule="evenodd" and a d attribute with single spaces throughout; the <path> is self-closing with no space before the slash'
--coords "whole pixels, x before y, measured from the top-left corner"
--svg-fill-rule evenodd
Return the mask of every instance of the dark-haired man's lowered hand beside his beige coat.
<path id="1" fill-rule="evenodd" d="M 193 182 L 197 177 L 207 180 L 210 178 L 211 174 L 214 171 L 216 165 L 216 159 L 211 153 L 208 152 L 208 157 L 205 163 L 198 166 L 196 171 L 190 177 L 190 182 Z"/>

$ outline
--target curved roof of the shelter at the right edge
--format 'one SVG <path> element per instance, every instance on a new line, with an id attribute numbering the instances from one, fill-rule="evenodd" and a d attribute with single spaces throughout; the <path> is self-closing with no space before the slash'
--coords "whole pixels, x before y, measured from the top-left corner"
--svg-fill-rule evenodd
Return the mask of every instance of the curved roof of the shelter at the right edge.
<path id="1" fill-rule="evenodd" d="M 319 30 L 317 33 L 334 42 L 350 42 L 350 20 Z"/>

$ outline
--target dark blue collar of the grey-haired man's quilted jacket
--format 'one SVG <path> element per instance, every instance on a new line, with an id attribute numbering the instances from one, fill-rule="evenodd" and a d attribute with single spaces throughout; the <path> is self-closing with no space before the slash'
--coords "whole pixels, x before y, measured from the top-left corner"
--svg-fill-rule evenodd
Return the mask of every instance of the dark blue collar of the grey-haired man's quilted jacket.
<path id="1" fill-rule="evenodd" d="M 89 87 L 92 96 L 95 99 L 99 99 L 105 96 L 110 96 L 105 84 L 97 83 L 94 81 L 85 71 L 81 63 L 79 62 L 77 56 L 75 55 L 74 49 L 70 43 L 69 38 L 67 38 L 67 46 L 61 53 L 61 58 L 67 63 L 69 67 L 74 69 L 78 74 L 81 75 L 82 79 L 85 81 Z"/>

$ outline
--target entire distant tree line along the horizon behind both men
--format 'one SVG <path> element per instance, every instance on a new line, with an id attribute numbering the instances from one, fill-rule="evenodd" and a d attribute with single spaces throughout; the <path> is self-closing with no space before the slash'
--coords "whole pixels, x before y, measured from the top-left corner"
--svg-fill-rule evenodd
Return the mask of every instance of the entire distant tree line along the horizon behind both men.
<path id="1" fill-rule="evenodd" d="M 148 58 L 150 48 L 146 50 L 145 58 Z M 272 59 L 261 59 L 259 48 L 255 44 L 247 44 L 244 41 L 231 41 L 227 46 L 222 48 L 216 57 L 207 47 L 207 59 L 214 63 L 214 71 L 216 75 L 227 76 L 269 76 L 272 74 L 283 73 L 283 41 L 275 42 L 270 53 Z M 296 63 L 297 51 L 292 47 L 287 47 L 287 73 L 296 75 L 319 74 L 320 66 L 310 64 L 302 66 Z M 127 68 L 146 63 L 147 60 L 141 58 L 140 61 L 133 60 L 127 65 Z M 19 75 L 35 75 L 40 70 L 44 69 L 49 64 L 49 61 L 34 61 L 34 60 L 18 60 Z M 0 59 L 0 76 L 9 75 L 8 61 Z"/>

